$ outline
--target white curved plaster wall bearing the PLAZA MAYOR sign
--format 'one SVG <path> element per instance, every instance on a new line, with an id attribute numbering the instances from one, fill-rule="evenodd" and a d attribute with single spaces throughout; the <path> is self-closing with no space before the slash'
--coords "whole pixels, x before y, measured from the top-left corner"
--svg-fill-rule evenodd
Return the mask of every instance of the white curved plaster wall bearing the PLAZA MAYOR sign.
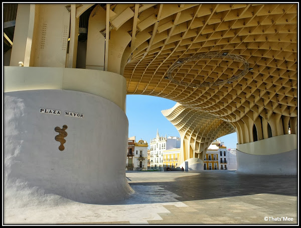
<path id="1" fill-rule="evenodd" d="M 60 151 L 54 129 L 63 125 L 68 135 Z M 5 92 L 5 194 L 26 185 L 84 203 L 126 197 L 132 192 L 125 178 L 127 136 L 124 111 L 103 97 L 61 89 Z"/>

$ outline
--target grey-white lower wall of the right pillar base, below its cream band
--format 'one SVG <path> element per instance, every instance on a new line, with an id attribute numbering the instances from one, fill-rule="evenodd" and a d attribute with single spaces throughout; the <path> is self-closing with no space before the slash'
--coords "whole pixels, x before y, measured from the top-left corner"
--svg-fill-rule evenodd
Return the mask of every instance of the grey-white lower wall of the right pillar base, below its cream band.
<path id="1" fill-rule="evenodd" d="M 297 150 L 272 155 L 252 155 L 236 150 L 238 174 L 297 175 Z"/>

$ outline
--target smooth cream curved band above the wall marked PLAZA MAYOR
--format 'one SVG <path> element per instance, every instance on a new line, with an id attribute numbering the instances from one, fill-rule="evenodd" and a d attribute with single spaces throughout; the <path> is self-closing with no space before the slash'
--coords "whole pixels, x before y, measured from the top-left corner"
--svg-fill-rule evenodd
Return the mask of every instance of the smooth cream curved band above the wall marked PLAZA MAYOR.
<path id="1" fill-rule="evenodd" d="M 125 112 L 126 80 L 113 72 L 59 67 L 4 67 L 4 92 L 66 89 L 104 97 Z"/>

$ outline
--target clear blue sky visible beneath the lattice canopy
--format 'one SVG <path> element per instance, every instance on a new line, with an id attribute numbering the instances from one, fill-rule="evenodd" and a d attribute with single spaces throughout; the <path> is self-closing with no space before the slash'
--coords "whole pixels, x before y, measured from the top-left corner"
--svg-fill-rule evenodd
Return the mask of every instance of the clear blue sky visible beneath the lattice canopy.
<path id="1" fill-rule="evenodd" d="M 128 137 L 135 136 L 136 141 L 160 136 L 180 137 L 177 129 L 161 113 L 161 110 L 173 107 L 177 102 L 157 96 L 126 95 L 126 116 L 128 119 Z M 219 138 L 227 148 L 236 148 L 237 135 L 232 133 Z"/>

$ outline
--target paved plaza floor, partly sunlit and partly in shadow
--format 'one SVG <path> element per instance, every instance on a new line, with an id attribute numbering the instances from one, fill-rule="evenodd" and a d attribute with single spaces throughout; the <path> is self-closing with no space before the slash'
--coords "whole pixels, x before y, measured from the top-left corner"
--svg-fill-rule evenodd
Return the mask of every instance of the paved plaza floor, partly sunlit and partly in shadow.
<path id="1" fill-rule="evenodd" d="M 4 224 L 298 224 L 297 176 L 208 170 L 127 171 L 126 178 L 135 193 L 124 201 L 14 208 Z"/>

